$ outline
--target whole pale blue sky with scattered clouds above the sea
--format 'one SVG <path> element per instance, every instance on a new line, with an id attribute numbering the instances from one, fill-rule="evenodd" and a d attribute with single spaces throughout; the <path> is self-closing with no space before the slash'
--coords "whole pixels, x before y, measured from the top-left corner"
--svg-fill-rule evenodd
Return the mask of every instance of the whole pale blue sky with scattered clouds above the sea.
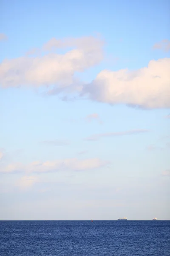
<path id="1" fill-rule="evenodd" d="M 169 14 L 0 1 L 0 220 L 170 220 Z"/>

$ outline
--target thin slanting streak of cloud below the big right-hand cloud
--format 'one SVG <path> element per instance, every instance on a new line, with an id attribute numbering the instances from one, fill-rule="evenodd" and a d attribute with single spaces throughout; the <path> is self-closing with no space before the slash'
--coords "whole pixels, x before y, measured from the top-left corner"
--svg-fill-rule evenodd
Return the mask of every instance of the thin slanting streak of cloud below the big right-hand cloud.
<path id="1" fill-rule="evenodd" d="M 132 134 L 139 134 L 139 133 L 145 133 L 145 132 L 148 132 L 148 130 L 136 129 L 136 130 L 130 130 L 130 131 L 110 132 L 110 133 L 104 133 L 104 134 L 95 134 L 95 135 L 85 138 L 85 140 L 99 140 L 102 137 L 132 135 Z"/>

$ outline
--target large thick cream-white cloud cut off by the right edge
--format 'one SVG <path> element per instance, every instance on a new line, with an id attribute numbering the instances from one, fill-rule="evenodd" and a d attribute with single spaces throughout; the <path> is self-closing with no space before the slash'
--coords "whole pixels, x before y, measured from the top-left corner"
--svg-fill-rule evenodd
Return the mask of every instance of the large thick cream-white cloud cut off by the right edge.
<path id="1" fill-rule="evenodd" d="M 152 60 L 136 71 L 102 70 L 84 85 L 81 96 L 109 104 L 170 108 L 170 58 Z"/>

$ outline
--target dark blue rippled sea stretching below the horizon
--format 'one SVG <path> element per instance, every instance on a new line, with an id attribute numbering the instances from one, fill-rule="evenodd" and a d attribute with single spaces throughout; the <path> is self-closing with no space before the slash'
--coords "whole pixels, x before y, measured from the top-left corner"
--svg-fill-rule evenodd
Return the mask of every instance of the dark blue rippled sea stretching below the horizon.
<path id="1" fill-rule="evenodd" d="M 170 256 L 170 221 L 0 221 L 4 256 Z"/>

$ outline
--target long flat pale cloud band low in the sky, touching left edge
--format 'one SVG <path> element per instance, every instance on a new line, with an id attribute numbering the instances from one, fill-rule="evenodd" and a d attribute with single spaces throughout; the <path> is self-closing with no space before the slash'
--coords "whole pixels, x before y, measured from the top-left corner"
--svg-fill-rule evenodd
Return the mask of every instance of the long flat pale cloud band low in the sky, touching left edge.
<path id="1" fill-rule="evenodd" d="M 78 160 L 77 158 L 40 162 L 36 161 L 28 165 L 22 163 L 13 163 L 7 166 L 1 166 L 0 172 L 3 173 L 44 173 L 44 172 L 57 172 L 63 170 L 83 171 L 101 168 L 108 165 L 108 161 L 102 161 L 99 158 Z"/>

